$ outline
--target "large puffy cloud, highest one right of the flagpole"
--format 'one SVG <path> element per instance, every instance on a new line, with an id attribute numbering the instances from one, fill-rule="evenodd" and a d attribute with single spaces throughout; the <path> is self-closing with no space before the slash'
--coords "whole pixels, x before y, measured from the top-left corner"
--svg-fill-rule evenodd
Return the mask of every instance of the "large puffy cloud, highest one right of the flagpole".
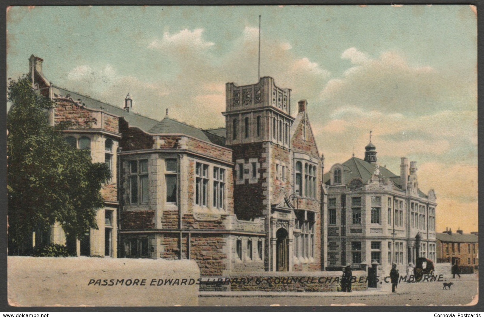
<path id="1" fill-rule="evenodd" d="M 430 66 L 411 64 L 397 51 L 385 51 L 378 58 L 354 47 L 342 59 L 352 64 L 338 78 L 332 78 L 321 92 L 322 102 L 332 109 L 358 105 L 366 110 L 421 116 L 441 110 L 475 109 L 476 85 L 469 74 L 450 74 Z"/>

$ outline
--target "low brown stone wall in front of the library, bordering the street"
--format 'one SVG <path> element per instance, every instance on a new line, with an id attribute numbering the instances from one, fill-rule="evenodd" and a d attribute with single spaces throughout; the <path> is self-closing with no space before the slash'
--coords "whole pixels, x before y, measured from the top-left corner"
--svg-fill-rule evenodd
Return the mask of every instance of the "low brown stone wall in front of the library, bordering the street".
<path id="1" fill-rule="evenodd" d="M 202 277 L 200 291 L 338 291 L 341 272 L 253 273 Z M 353 271 L 352 290 L 368 289 L 367 274 Z"/>

